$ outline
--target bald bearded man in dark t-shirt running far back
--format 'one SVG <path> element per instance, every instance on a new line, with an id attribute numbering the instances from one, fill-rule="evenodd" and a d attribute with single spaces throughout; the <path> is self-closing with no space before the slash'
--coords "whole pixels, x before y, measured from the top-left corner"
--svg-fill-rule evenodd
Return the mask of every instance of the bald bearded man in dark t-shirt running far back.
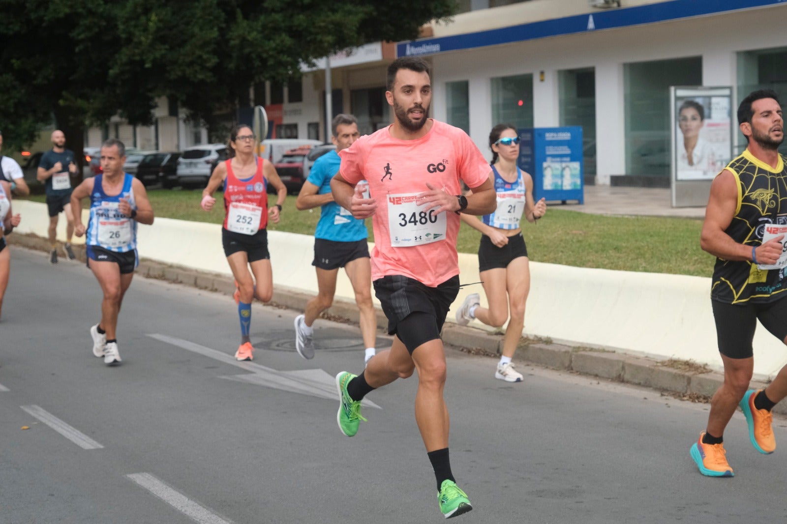
<path id="1" fill-rule="evenodd" d="M 36 178 L 46 186 L 46 207 L 49 208 L 49 239 L 52 250 L 50 262 L 57 264 L 57 216 L 65 212 L 68 225 L 65 228 L 63 251 L 69 260 L 74 260 L 71 237 L 74 234 L 74 217 L 71 215 L 71 175 L 76 173 L 74 153 L 65 149 L 63 131 L 52 131 L 52 149 L 41 156 Z"/>

